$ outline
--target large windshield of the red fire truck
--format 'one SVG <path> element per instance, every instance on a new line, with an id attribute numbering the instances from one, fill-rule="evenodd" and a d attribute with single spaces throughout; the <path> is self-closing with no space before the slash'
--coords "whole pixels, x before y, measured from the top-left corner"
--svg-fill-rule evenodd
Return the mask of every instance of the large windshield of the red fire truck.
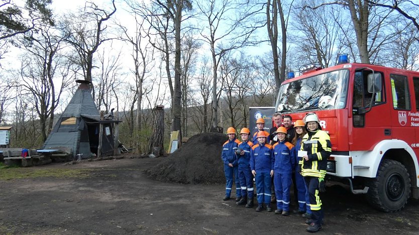
<path id="1" fill-rule="evenodd" d="M 337 70 L 281 85 L 277 111 L 339 109 L 346 105 L 349 70 Z"/>

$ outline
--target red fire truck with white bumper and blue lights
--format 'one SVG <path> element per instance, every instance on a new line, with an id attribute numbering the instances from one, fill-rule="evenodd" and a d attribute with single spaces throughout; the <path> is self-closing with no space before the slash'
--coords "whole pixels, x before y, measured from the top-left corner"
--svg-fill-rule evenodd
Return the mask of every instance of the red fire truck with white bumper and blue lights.
<path id="1" fill-rule="evenodd" d="M 293 121 L 317 113 L 332 142 L 329 180 L 383 211 L 419 197 L 419 72 L 343 60 L 285 80 L 275 108 Z"/>

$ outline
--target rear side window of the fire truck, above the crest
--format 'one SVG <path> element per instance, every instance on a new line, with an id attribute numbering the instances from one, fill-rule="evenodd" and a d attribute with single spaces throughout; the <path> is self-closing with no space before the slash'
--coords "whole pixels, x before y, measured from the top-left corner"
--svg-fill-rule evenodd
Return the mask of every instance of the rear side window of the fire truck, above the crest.
<path id="1" fill-rule="evenodd" d="M 407 77 L 390 74 L 390 81 L 394 109 L 410 109 L 410 93 Z"/>

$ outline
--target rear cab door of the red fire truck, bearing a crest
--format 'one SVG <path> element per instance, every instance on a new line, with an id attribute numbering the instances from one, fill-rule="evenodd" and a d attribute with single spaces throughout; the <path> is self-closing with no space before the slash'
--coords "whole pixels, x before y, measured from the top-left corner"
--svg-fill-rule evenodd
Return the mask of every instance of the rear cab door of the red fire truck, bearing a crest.
<path id="1" fill-rule="evenodd" d="M 393 139 L 403 140 L 409 146 L 416 144 L 415 120 L 419 120 L 417 112 L 412 111 L 410 87 L 407 76 L 390 74 L 391 86 L 391 127 Z M 417 139 L 417 138 L 416 138 Z"/>

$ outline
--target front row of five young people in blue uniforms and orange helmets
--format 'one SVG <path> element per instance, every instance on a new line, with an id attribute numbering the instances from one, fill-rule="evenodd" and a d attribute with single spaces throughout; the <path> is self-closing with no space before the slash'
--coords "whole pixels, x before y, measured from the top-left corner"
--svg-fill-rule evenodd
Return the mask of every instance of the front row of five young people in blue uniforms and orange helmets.
<path id="1" fill-rule="evenodd" d="M 269 133 L 258 127 L 258 132 L 250 140 L 250 130 L 243 128 L 240 131 L 242 141 L 236 138 L 236 130 L 229 128 L 227 134 L 229 140 L 223 145 L 222 159 L 226 174 L 226 196 L 223 200 L 229 200 L 233 176 L 236 181 L 236 204 L 253 207 L 253 178 L 257 189 L 258 205 L 256 211 L 266 208 L 272 211 L 271 187 L 272 177 L 276 196 L 276 214 L 289 215 L 290 187 L 294 174 L 298 198 L 298 209 L 293 212 L 309 218 L 310 208 L 308 194 L 303 177 L 299 173 L 297 152 L 301 146 L 301 139 L 305 135 L 304 123 L 297 120 L 293 127 L 295 135 L 288 140 L 287 129 L 278 127 L 276 130 L 277 142 L 269 144 Z M 301 166 L 299 166 L 301 167 Z M 237 180 L 238 179 L 238 180 Z M 238 181 L 238 182 L 237 182 Z"/>

